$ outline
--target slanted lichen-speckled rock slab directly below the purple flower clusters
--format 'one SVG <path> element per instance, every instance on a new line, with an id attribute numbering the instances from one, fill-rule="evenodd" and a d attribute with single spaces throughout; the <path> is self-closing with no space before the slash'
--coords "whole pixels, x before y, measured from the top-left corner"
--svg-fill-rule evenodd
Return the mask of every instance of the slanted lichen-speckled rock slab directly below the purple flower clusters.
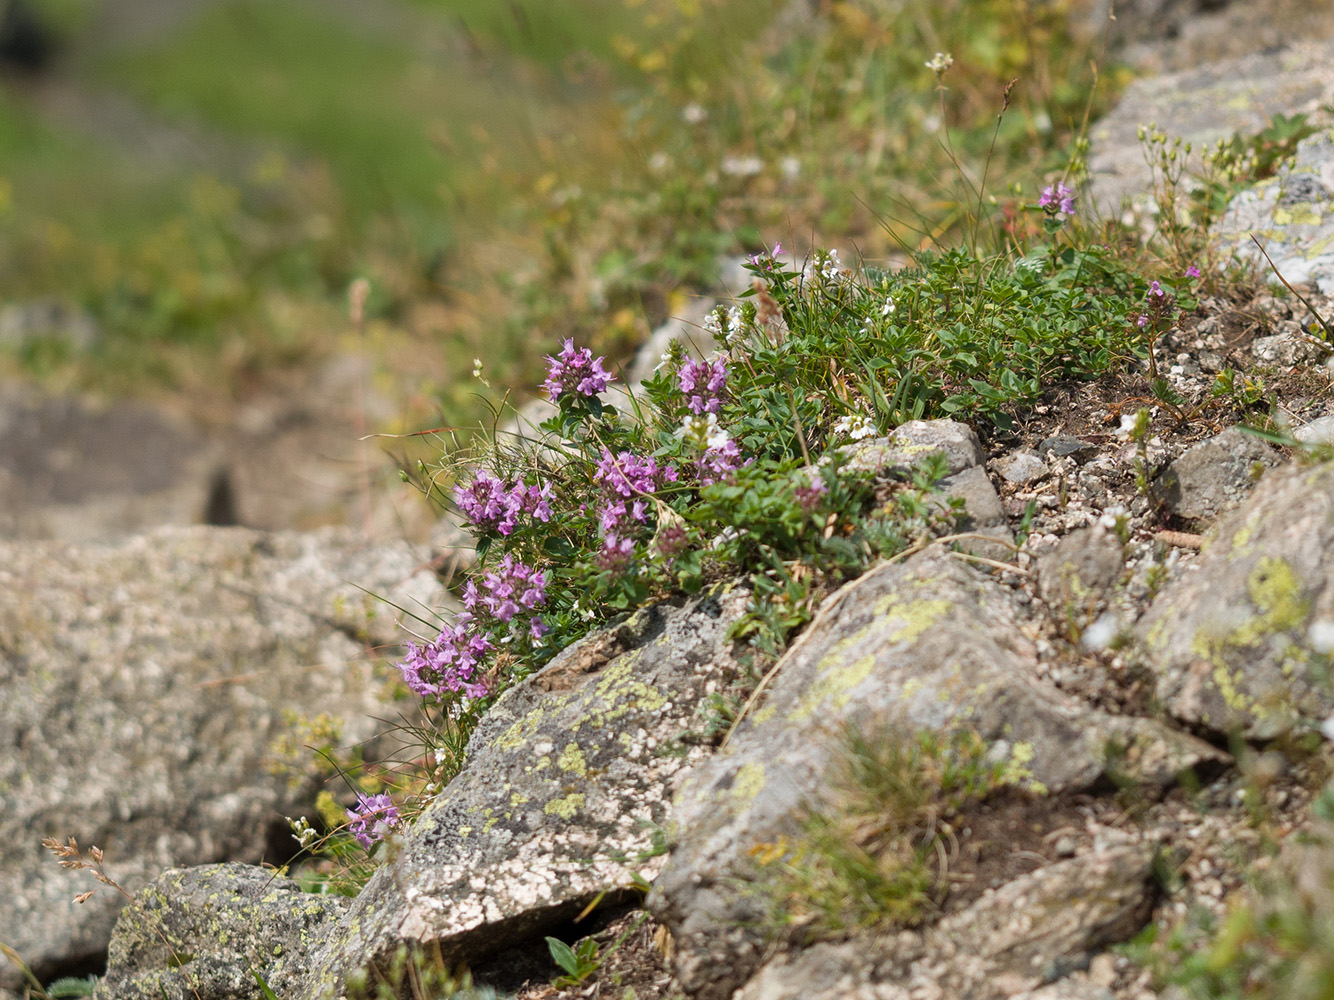
<path id="1" fill-rule="evenodd" d="M 739 669 L 728 631 L 748 600 L 736 585 L 646 608 L 506 692 L 295 996 L 340 991 L 403 945 L 476 960 L 655 875 L 675 779 L 708 752 L 676 741 Z"/>

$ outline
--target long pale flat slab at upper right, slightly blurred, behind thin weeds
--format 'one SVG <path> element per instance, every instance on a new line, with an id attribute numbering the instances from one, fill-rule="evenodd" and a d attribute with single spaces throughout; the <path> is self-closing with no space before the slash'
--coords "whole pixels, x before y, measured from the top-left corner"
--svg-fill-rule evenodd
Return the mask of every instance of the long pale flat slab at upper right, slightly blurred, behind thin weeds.
<path id="1" fill-rule="evenodd" d="M 1318 115 L 1331 101 L 1334 41 L 1295 43 L 1137 80 L 1090 129 L 1086 208 L 1117 219 L 1125 201 L 1151 197 L 1154 177 L 1137 137 L 1142 125 L 1157 124 L 1170 139 L 1190 141 L 1189 163 L 1198 171 L 1201 151 L 1217 140 L 1261 132 L 1275 115 Z"/>

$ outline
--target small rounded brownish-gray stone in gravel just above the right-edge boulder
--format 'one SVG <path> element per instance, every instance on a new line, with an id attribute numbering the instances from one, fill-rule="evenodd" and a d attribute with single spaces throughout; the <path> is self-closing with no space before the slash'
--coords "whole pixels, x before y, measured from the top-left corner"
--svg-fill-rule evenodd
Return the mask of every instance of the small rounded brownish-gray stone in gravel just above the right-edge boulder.
<path id="1" fill-rule="evenodd" d="M 1259 473 L 1278 461 L 1271 447 L 1230 427 L 1191 445 L 1154 480 L 1151 492 L 1178 517 L 1211 520 L 1239 507 Z"/>

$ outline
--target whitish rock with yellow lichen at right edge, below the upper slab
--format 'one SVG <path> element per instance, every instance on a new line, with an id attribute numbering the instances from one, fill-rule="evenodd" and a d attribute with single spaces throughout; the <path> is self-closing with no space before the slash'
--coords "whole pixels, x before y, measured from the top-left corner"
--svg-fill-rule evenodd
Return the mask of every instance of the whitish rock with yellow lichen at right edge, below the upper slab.
<path id="1" fill-rule="evenodd" d="M 1334 293 L 1334 129 L 1298 143 L 1293 165 L 1233 199 L 1213 232 L 1270 281 L 1277 268 L 1291 284 Z"/>

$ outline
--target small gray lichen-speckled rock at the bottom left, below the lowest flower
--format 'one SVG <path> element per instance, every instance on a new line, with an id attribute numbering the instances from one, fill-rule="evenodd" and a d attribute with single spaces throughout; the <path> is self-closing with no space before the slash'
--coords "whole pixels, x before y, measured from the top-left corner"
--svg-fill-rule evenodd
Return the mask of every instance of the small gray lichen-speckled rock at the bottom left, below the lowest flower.
<path id="1" fill-rule="evenodd" d="M 291 879 L 244 864 L 171 868 L 120 912 L 96 1000 L 260 997 L 293 987 L 346 896 L 303 892 Z"/>

